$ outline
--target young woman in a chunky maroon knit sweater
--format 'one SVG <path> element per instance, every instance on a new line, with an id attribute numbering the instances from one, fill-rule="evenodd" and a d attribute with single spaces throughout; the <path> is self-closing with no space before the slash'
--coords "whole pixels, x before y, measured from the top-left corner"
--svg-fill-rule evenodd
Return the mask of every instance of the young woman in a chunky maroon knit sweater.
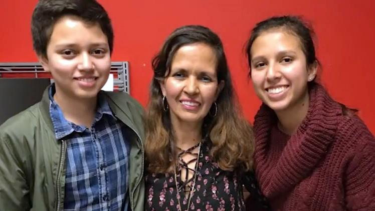
<path id="1" fill-rule="evenodd" d="M 315 82 L 311 33 L 291 16 L 252 30 L 256 177 L 274 210 L 375 210 L 375 139 Z"/>

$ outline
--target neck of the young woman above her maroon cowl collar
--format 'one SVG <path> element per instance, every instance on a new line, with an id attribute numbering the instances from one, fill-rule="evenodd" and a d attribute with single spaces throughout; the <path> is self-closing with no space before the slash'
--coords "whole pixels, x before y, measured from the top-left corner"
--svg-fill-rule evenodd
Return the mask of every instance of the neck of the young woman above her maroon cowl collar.
<path id="1" fill-rule="evenodd" d="M 279 119 L 278 127 L 288 135 L 292 135 L 302 123 L 309 108 L 309 94 L 306 91 L 303 99 L 288 109 L 275 111 Z"/>

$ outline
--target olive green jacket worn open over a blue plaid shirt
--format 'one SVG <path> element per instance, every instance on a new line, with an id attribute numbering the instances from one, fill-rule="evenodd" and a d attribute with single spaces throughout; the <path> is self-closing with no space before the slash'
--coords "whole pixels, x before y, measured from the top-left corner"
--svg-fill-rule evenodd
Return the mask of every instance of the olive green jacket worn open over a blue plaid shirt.
<path id="1" fill-rule="evenodd" d="M 113 114 L 133 131 L 129 157 L 131 210 L 143 210 L 143 108 L 125 93 L 106 92 Z M 63 210 L 65 140 L 56 140 L 48 89 L 42 101 L 0 126 L 0 210 Z M 1 107 L 1 105 L 0 105 Z"/>

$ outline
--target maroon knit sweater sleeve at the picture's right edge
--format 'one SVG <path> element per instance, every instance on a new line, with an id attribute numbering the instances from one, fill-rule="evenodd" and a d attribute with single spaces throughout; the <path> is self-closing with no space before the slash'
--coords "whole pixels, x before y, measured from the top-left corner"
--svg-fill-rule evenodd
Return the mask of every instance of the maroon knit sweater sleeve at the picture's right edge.
<path id="1" fill-rule="evenodd" d="M 360 135 L 344 172 L 348 210 L 375 210 L 375 138 L 363 127 L 356 130 Z"/>

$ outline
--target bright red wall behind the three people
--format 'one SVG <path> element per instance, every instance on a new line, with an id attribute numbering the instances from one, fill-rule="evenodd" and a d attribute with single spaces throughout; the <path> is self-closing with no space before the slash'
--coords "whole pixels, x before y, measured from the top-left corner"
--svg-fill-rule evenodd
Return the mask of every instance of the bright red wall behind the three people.
<path id="1" fill-rule="evenodd" d="M 30 35 L 37 0 L 3 0 L 0 7 L 0 62 L 37 61 Z M 249 120 L 260 105 L 246 78 L 243 46 L 250 29 L 274 15 L 303 15 L 317 34 L 322 83 L 338 101 L 359 109 L 375 133 L 375 1 L 373 0 L 101 0 L 115 30 L 113 61 L 129 61 L 130 92 L 146 105 L 150 61 L 176 27 L 201 24 L 222 38 L 233 79 Z"/>

